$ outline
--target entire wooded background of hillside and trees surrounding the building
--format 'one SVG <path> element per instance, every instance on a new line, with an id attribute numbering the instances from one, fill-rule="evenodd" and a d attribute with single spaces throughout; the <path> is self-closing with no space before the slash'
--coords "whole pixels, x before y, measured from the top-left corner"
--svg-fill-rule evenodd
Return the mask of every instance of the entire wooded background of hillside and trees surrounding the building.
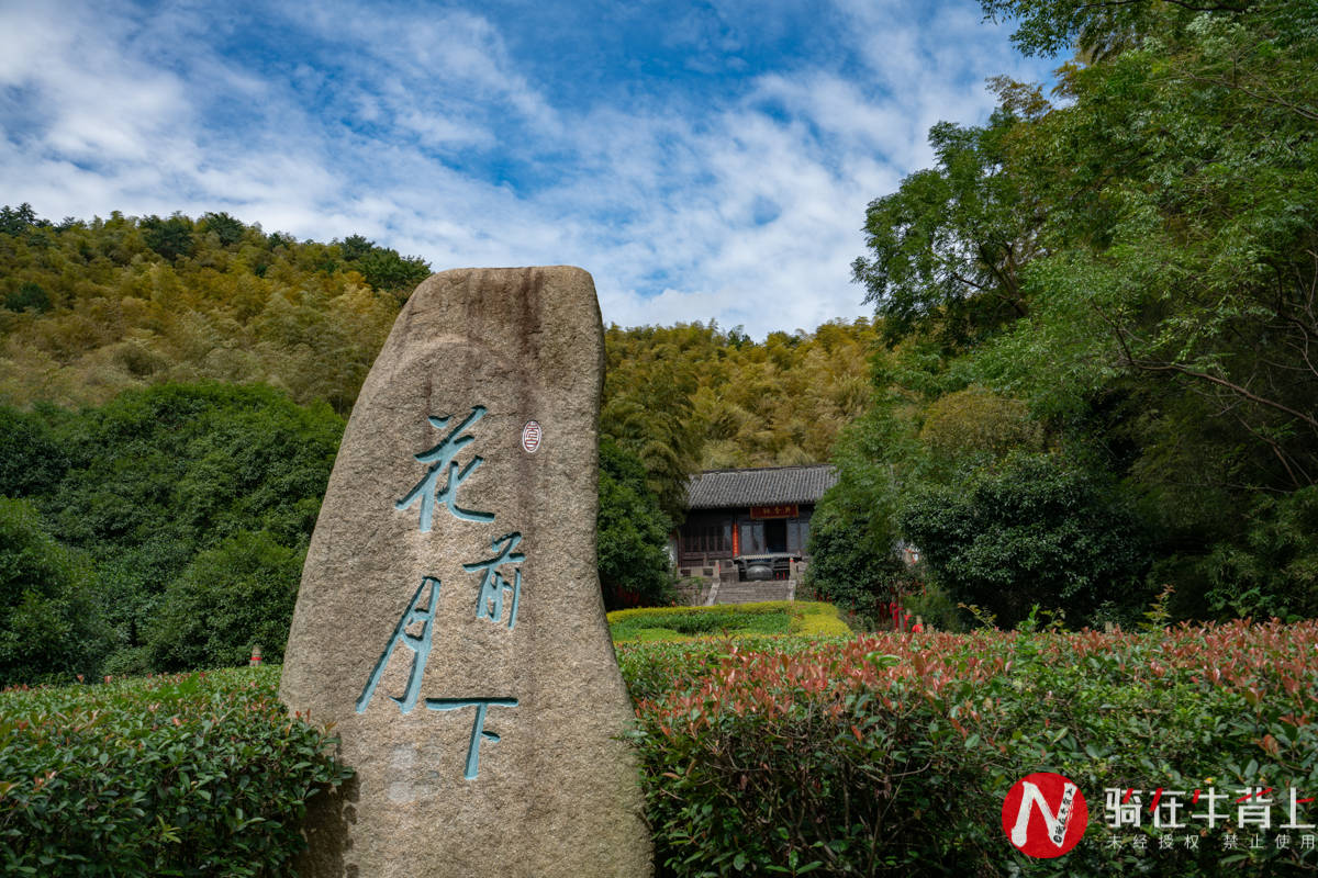
<path id="1" fill-rule="evenodd" d="M 608 594 L 664 599 L 689 473 L 830 457 L 813 586 L 861 615 L 1318 615 L 1318 7 L 982 5 L 1070 59 L 1052 95 L 992 80 L 983 125 L 933 126 L 933 166 L 876 194 L 873 321 L 606 330 Z M 0 211 L 0 674 L 84 642 L 219 661 L 198 619 L 291 606 L 428 271 L 223 213 Z"/>

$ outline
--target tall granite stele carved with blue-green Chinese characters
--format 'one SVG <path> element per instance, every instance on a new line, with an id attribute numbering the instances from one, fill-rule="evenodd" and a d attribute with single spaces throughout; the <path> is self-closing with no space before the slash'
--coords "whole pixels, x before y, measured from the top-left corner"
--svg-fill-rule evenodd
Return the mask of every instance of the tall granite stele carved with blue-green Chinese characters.
<path id="1" fill-rule="evenodd" d="M 590 275 L 423 282 L 370 369 L 307 552 L 281 696 L 357 777 L 301 874 L 648 875 L 596 573 Z"/>

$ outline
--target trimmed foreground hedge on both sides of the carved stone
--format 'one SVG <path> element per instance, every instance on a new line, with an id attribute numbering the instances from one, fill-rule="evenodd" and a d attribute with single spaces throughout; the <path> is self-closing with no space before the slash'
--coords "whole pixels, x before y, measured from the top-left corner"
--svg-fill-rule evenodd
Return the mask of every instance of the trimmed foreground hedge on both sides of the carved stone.
<path id="1" fill-rule="evenodd" d="M 1198 849 L 1162 849 L 1149 827 L 1114 848 L 1103 798 L 1273 787 L 1277 825 L 1288 790 L 1314 796 L 1318 621 L 617 652 L 660 875 L 1318 870 L 1298 844 L 1251 848 L 1234 816 Z M 0 873 L 291 874 L 304 800 L 351 770 L 287 717 L 277 682 L 265 667 L 0 692 Z M 1058 860 L 1029 860 L 1002 832 L 1007 790 L 1033 771 L 1089 799 L 1085 840 Z M 1306 807 L 1301 821 L 1318 823 Z M 1234 831 L 1240 849 L 1226 850 Z"/>

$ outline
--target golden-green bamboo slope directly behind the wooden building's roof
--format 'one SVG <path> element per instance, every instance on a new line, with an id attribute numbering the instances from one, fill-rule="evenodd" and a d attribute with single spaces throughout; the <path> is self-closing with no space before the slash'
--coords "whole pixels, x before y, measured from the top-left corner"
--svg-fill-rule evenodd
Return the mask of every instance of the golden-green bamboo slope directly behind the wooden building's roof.
<path id="1" fill-rule="evenodd" d="M 818 463 L 870 399 L 865 320 L 813 333 L 642 326 L 605 333 L 600 428 L 646 466 L 664 509 L 680 519 L 696 470 Z"/>

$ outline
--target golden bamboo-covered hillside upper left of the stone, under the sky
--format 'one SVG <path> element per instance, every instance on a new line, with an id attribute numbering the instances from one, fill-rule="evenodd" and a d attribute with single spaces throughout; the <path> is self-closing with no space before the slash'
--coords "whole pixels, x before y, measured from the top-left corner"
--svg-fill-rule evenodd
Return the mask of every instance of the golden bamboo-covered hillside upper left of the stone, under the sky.
<path id="1" fill-rule="evenodd" d="M 265 382 L 345 413 L 430 274 L 361 236 L 318 244 L 227 213 L 0 212 L 0 401 L 105 403 L 159 382 Z"/>

